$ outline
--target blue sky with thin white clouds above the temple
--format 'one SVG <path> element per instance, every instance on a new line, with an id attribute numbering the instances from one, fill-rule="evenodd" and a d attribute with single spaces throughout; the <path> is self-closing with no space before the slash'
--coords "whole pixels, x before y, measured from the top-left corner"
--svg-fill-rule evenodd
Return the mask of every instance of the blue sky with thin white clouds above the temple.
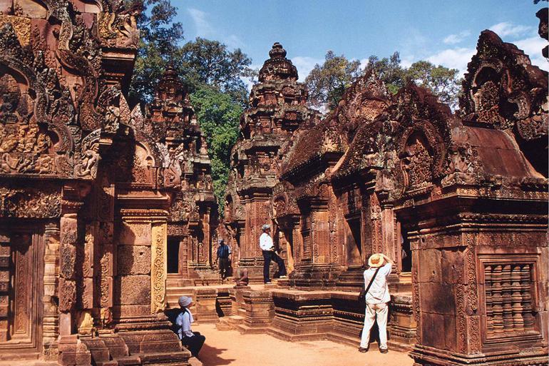
<path id="1" fill-rule="evenodd" d="M 427 59 L 465 71 L 478 34 L 491 29 L 545 70 L 545 40 L 532 0 L 172 0 L 185 40 L 201 36 L 240 47 L 260 67 L 275 41 L 303 80 L 326 51 L 363 63 L 399 51 L 405 66 Z"/>

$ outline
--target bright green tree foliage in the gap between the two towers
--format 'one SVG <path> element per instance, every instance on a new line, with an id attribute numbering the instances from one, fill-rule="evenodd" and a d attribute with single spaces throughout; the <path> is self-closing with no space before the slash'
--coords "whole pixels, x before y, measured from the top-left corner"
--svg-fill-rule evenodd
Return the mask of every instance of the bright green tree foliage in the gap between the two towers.
<path id="1" fill-rule="evenodd" d="M 191 94 L 190 101 L 206 138 L 212 160 L 214 194 L 222 212 L 230 171 L 230 152 L 237 141 L 243 108 L 229 94 L 212 86 L 200 86 Z"/>

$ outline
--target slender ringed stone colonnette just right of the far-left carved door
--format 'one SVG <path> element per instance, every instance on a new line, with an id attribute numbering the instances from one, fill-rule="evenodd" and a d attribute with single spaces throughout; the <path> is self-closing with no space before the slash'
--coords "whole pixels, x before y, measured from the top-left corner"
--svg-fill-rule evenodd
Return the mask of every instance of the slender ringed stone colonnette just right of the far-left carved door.
<path id="1" fill-rule="evenodd" d="M 44 230 L 44 273 L 43 273 L 43 323 L 42 345 L 44 355 L 56 355 L 59 332 L 58 276 L 59 276 L 59 224 L 48 223 Z"/>

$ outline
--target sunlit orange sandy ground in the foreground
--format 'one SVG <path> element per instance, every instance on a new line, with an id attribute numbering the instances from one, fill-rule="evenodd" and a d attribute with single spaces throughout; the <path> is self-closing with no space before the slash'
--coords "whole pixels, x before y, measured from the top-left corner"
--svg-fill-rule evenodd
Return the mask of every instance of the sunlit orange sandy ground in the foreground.
<path id="1" fill-rule="evenodd" d="M 217 330 L 215 325 L 193 325 L 205 335 L 198 355 L 204 366 L 411 366 L 406 354 L 389 350 L 360 353 L 355 347 L 326 340 L 285 342 L 270 335 L 241 335 L 235 330 Z"/>

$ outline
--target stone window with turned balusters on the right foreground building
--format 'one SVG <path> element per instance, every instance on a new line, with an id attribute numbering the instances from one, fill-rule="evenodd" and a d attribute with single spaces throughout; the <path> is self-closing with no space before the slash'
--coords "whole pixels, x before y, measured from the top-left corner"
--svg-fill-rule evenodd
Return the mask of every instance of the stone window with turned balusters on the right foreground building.
<path id="1" fill-rule="evenodd" d="M 487 343 L 503 338 L 540 337 L 535 317 L 537 256 L 481 258 Z"/>

